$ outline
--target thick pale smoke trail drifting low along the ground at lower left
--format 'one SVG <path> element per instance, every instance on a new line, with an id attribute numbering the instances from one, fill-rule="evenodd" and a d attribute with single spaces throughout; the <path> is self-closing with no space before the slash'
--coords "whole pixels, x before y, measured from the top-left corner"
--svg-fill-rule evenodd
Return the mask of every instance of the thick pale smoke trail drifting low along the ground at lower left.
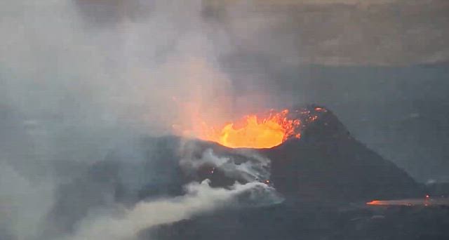
<path id="1" fill-rule="evenodd" d="M 173 199 L 161 199 L 156 201 L 142 201 L 131 209 L 123 209 L 119 216 L 99 217 L 83 220 L 78 232 L 67 239 L 73 240 L 95 240 L 112 239 L 125 240 L 134 239 L 139 232 L 157 225 L 185 220 L 193 215 L 213 211 L 217 208 L 232 206 L 236 196 L 250 193 L 251 199 L 265 196 L 273 196 L 272 203 L 279 203 L 274 189 L 261 182 L 250 182 L 245 185 L 236 183 L 230 189 L 211 188 L 209 181 L 191 183 L 186 186 L 184 196 Z"/>

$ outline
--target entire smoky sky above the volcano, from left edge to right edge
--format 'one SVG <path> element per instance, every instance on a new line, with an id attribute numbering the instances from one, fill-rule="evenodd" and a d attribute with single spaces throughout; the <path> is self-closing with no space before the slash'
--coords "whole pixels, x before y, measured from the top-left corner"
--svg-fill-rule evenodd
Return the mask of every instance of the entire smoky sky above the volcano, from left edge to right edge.
<path id="1" fill-rule="evenodd" d="M 324 105 L 448 181 L 448 25 L 445 0 L 1 1 L 0 213 L 17 214 L 0 226 L 29 239 L 56 182 L 194 114 Z"/>

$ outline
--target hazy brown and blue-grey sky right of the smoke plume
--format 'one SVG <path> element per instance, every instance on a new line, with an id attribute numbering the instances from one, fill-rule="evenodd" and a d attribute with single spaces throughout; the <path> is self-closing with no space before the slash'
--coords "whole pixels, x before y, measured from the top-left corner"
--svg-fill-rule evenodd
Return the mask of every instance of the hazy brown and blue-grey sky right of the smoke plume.
<path id="1" fill-rule="evenodd" d="M 447 1 L 215 6 L 210 18 L 234 44 L 221 59 L 236 98 L 326 105 L 358 140 L 416 179 L 447 180 Z"/>

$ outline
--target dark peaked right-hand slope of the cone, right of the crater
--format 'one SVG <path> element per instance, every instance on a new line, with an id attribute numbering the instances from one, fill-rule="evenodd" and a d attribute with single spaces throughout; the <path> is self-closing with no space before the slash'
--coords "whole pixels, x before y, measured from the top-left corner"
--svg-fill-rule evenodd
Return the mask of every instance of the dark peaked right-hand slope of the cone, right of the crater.
<path id="1" fill-rule="evenodd" d="M 391 161 L 355 140 L 330 111 L 299 140 L 262 150 L 272 159 L 272 181 L 297 200 L 358 201 L 417 196 L 420 187 Z"/>

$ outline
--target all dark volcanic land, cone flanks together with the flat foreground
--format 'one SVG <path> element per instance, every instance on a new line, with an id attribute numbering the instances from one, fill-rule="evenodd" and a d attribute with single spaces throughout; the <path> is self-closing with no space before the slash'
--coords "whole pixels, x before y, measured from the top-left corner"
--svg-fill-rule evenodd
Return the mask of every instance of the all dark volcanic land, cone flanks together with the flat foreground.
<path id="1" fill-rule="evenodd" d="M 216 142 L 173 135 L 143 137 L 118 147 L 109 152 L 105 160 L 88 168 L 86 175 L 60 187 L 60 196 L 52 212 L 56 228 L 62 232 L 72 231 L 76 222 L 95 206 L 111 201 L 133 206 L 144 199 L 180 196 L 187 183 L 209 179 L 212 187 L 225 188 L 236 181 L 264 182 L 279 192 L 283 202 L 206 213 L 149 229 L 140 237 L 410 239 L 415 236 L 414 239 L 438 239 L 449 236 L 447 230 L 435 230 L 438 232 L 435 235 L 432 229 L 414 227 L 416 222 L 425 225 L 436 219 L 445 219 L 441 227 L 449 227 L 448 218 L 445 218 L 449 216 L 448 208 L 441 208 L 441 211 L 434 208 L 380 210 L 366 206 L 365 203 L 373 199 L 424 196 L 424 187 L 391 161 L 354 139 L 330 110 L 321 111 L 324 108 L 316 106 L 306 109 L 318 117 L 302 128 L 300 138 L 290 138 L 272 148 L 229 148 Z M 231 174 L 229 169 L 214 162 L 203 162 L 201 159 L 209 153 L 232 161 L 238 166 L 235 171 L 256 159 L 269 160 L 260 165 L 257 174 Z M 196 168 L 186 170 L 184 159 L 190 159 L 189 164 L 197 162 Z M 102 190 L 98 191 L 99 188 Z M 74 204 L 81 198 L 91 199 L 91 204 Z M 436 214 L 436 218 L 429 216 L 432 214 Z M 413 220 L 417 215 L 424 217 Z M 382 227 L 387 229 L 386 235 L 375 234 Z M 401 227 L 406 232 L 398 235 Z"/>

